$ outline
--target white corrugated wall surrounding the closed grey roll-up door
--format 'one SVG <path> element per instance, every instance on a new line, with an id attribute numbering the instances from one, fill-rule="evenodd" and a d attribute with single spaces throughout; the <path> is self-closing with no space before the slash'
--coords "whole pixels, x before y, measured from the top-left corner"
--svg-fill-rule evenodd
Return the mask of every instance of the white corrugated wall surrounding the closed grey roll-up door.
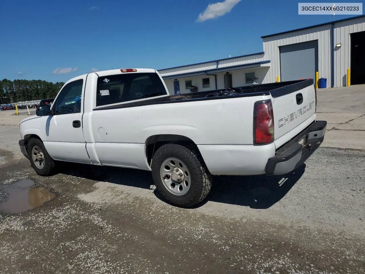
<path id="1" fill-rule="evenodd" d="M 325 26 L 314 27 L 306 30 L 299 30 L 292 33 L 278 34 L 275 36 L 263 38 L 265 52 L 264 59 L 271 60 L 271 68 L 264 79 L 264 83 L 273 83 L 276 81 L 276 76 L 280 76 L 280 46 L 312 40 L 318 40 L 319 78 L 327 78 L 327 83 L 331 83 L 330 33 L 331 24 L 328 24 Z"/>

